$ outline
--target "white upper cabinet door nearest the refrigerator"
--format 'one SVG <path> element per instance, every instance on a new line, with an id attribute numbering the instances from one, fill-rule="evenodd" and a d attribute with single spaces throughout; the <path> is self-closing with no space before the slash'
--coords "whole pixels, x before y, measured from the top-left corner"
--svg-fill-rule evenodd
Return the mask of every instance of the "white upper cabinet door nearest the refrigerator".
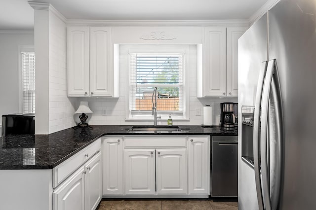
<path id="1" fill-rule="evenodd" d="M 238 97 L 238 38 L 247 27 L 227 27 L 227 96 Z"/>

